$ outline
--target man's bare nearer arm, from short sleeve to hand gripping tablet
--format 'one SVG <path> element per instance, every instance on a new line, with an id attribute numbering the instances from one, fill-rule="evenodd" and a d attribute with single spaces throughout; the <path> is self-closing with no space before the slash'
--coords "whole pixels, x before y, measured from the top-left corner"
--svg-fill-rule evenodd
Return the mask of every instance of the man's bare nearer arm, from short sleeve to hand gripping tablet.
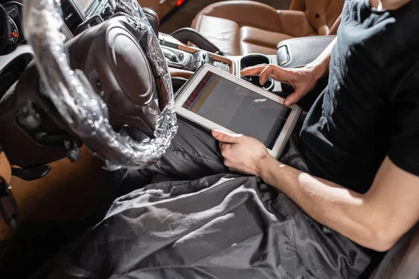
<path id="1" fill-rule="evenodd" d="M 309 216 L 355 243 L 385 251 L 419 221 L 419 176 L 385 158 L 364 195 L 279 163 L 252 137 L 214 130 L 224 164 L 260 176 Z M 354 174 L 356 175 L 356 174 Z"/>

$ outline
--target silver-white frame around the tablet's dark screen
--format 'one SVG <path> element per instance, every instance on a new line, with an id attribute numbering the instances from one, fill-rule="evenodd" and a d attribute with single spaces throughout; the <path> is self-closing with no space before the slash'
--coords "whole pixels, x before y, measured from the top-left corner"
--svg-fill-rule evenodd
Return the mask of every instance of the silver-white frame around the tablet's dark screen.
<path id="1" fill-rule="evenodd" d="M 284 98 L 281 98 L 275 95 L 274 93 L 271 93 L 270 91 L 261 89 L 260 87 L 251 84 L 250 82 L 247 82 L 245 80 L 242 80 L 239 77 L 236 77 L 235 75 L 231 75 L 230 73 L 227 73 L 219 68 L 216 68 L 209 64 L 205 64 L 198 68 L 198 70 L 193 74 L 191 79 L 188 82 L 186 82 L 182 90 L 177 95 L 177 98 L 175 100 L 175 110 L 176 113 L 179 114 L 179 116 L 182 116 L 184 119 L 188 119 L 189 121 L 192 121 L 193 123 L 196 123 L 199 126 L 203 126 L 203 128 L 206 128 L 207 130 L 218 129 L 224 130 L 228 133 L 235 133 L 232 130 L 228 130 L 223 126 L 220 126 L 219 124 L 205 119 L 203 116 L 200 116 L 199 114 L 186 110 L 184 107 L 182 107 L 183 103 L 191 95 L 191 93 L 193 93 L 193 90 L 196 89 L 196 86 L 198 86 L 198 84 L 201 82 L 201 80 L 203 80 L 203 77 L 208 72 L 212 72 L 216 75 L 226 78 L 227 80 L 230 80 L 231 82 L 235 82 L 240 86 L 250 89 L 251 91 L 258 93 L 261 96 L 264 96 L 266 98 L 269 98 L 270 100 L 273 100 L 274 102 L 284 105 Z M 295 123 L 297 123 L 298 117 L 301 114 L 301 108 L 297 105 L 291 105 L 289 108 L 291 109 L 291 112 L 288 116 L 286 123 L 284 124 L 284 127 L 281 130 L 281 133 L 277 137 L 274 146 L 272 147 L 272 149 L 267 148 L 270 155 L 274 156 L 275 158 L 281 156 L 282 151 L 284 151 L 286 142 L 291 136 L 293 128 L 295 127 Z"/>

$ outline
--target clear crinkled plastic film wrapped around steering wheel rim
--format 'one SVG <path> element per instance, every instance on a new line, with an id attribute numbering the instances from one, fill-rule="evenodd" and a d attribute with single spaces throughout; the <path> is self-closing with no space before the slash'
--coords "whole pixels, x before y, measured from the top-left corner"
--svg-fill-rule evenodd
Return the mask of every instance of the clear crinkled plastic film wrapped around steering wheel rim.
<path id="1" fill-rule="evenodd" d="M 167 105 L 157 120 L 155 137 L 142 142 L 112 129 L 107 105 L 94 92 L 84 73 L 69 66 L 64 35 L 59 31 L 64 22 L 55 0 L 24 1 L 24 32 L 34 49 L 45 93 L 73 133 L 89 142 L 89 149 L 103 150 L 98 146 L 105 145 L 108 152 L 96 155 L 111 170 L 151 165 L 165 153 L 177 131 L 172 84 L 159 40 L 137 1 L 117 1 L 117 7 L 130 15 L 136 29 L 147 31 L 147 58 L 167 92 L 164 96 Z"/>

